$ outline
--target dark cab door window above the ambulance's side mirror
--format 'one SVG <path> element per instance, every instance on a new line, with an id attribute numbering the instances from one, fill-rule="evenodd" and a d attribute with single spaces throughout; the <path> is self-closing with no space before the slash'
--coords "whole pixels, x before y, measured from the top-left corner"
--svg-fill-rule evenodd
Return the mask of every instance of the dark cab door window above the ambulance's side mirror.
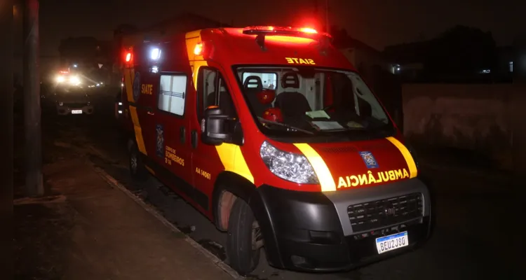
<path id="1" fill-rule="evenodd" d="M 236 108 L 224 78 L 217 69 L 201 67 L 197 78 L 197 119 L 203 118 L 208 106 L 217 105 L 229 116 L 236 117 Z"/>

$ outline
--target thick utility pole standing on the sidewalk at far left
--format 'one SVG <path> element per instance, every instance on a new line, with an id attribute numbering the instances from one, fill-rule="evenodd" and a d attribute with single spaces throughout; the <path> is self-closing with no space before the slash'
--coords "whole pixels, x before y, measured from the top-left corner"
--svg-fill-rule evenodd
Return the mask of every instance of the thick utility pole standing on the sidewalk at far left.
<path id="1" fill-rule="evenodd" d="M 24 0 L 25 190 L 43 195 L 39 73 L 39 0 Z"/>

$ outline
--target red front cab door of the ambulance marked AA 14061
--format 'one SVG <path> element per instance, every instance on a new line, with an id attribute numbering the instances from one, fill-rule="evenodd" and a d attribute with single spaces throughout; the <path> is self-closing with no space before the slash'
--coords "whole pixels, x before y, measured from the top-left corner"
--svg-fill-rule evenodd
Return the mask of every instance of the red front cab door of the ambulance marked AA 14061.
<path id="1" fill-rule="evenodd" d="M 198 190 L 196 193 L 203 194 L 197 198 L 201 200 L 199 204 L 206 204 L 205 210 L 210 208 L 211 200 L 208 198 L 213 197 L 217 176 L 224 170 L 217 148 L 201 142 L 201 119 L 205 109 L 211 105 L 218 105 L 225 112 L 236 115 L 234 102 L 221 72 L 214 67 L 202 66 L 197 78 L 196 114 L 190 122 L 194 187 Z"/>

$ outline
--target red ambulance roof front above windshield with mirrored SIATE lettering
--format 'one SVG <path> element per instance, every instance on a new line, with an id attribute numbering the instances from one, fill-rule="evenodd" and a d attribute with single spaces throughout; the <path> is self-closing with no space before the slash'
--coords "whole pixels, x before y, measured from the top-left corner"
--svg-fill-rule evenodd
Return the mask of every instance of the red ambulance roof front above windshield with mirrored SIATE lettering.
<path id="1" fill-rule="evenodd" d="M 255 38 L 255 35 L 243 34 L 243 28 L 201 30 L 201 40 L 205 45 L 207 41 L 214 45 L 213 59 L 225 64 L 288 64 L 286 57 L 292 57 L 313 59 L 318 67 L 356 70 L 342 52 L 332 45 L 328 55 L 322 55 L 318 41 L 310 38 L 266 36 L 267 50 L 262 50 Z"/>

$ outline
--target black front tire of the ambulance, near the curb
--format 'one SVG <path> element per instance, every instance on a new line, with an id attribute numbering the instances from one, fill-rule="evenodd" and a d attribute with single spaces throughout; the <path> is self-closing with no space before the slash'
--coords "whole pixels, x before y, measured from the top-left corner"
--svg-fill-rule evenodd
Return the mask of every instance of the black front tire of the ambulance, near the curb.
<path id="1" fill-rule="evenodd" d="M 230 212 L 227 235 L 227 258 L 232 268 L 242 276 L 259 264 L 261 248 L 252 249 L 254 214 L 246 202 L 238 198 Z"/>

